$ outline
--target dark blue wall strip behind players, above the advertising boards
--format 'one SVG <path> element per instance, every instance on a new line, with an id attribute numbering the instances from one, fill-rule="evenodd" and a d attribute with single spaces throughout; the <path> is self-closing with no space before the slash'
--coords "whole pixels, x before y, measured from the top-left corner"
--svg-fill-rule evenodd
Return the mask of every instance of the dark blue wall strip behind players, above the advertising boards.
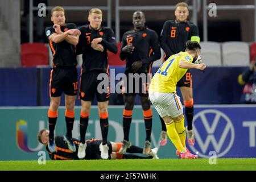
<path id="1" fill-rule="evenodd" d="M 109 72 L 124 73 L 124 67 L 110 67 Z M 152 68 L 155 73 L 158 68 Z M 246 67 L 208 67 L 193 73 L 195 104 L 240 104 L 242 86 L 237 77 Z M 0 106 L 48 106 L 50 68 L 0 68 Z M 80 68 L 79 68 L 80 75 Z M 110 74 L 113 78 L 113 74 Z M 181 96 L 180 90 L 177 94 Z M 117 102 L 119 101 L 119 102 Z M 122 105 L 121 94 L 112 94 L 110 104 Z M 97 105 L 96 100 L 92 102 Z M 140 105 L 139 97 L 135 104 Z M 62 97 L 61 105 L 64 105 Z M 76 105 L 81 105 L 76 100 Z"/>

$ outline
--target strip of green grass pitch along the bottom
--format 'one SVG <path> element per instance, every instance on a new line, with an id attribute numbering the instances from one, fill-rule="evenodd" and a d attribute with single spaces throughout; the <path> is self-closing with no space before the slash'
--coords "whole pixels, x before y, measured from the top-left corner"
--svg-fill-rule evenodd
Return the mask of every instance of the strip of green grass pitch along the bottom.
<path id="1" fill-rule="evenodd" d="M 256 171 L 256 159 L 217 159 L 217 164 L 209 164 L 209 159 L 129 159 L 129 160 L 46 160 L 38 164 L 36 160 L 0 161 L 0 170 L 85 170 L 85 171 L 175 171 L 175 170 L 239 170 Z"/>

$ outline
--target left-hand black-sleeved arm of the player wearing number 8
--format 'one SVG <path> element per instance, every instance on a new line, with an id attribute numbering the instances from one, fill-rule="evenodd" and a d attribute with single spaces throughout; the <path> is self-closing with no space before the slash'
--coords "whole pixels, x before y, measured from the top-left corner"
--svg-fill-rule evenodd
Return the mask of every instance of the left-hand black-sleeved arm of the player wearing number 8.
<path id="1" fill-rule="evenodd" d="M 170 39 L 168 37 L 168 32 L 170 32 L 168 24 L 169 24 L 168 22 L 164 22 L 163 29 L 162 29 L 162 32 L 161 32 L 161 35 L 160 35 L 160 46 L 162 47 L 162 49 L 166 53 L 167 57 L 170 57 L 174 53 L 171 51 L 171 49 L 170 49 L 170 47 L 168 46 L 168 43 L 167 43 L 167 40 Z"/>

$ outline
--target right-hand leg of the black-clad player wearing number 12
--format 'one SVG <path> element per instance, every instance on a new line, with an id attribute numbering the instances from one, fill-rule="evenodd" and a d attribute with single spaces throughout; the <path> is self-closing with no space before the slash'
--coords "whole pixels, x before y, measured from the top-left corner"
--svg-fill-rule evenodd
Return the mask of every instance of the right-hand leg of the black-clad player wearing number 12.
<path id="1" fill-rule="evenodd" d="M 151 131 L 152 131 L 152 110 L 150 108 L 150 100 L 148 94 L 141 96 L 141 105 L 146 129 L 146 142 L 143 147 L 143 154 L 147 155 L 151 151 Z"/>

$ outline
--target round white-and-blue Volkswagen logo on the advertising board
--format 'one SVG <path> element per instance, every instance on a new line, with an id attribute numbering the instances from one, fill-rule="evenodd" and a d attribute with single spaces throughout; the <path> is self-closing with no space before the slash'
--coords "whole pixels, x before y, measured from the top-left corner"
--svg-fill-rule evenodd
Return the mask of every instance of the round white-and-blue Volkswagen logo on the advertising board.
<path id="1" fill-rule="evenodd" d="M 195 146 L 189 146 L 201 158 L 209 158 L 209 151 L 216 151 L 217 158 L 228 153 L 234 143 L 234 127 L 229 117 L 220 110 L 206 109 L 193 119 Z"/>

